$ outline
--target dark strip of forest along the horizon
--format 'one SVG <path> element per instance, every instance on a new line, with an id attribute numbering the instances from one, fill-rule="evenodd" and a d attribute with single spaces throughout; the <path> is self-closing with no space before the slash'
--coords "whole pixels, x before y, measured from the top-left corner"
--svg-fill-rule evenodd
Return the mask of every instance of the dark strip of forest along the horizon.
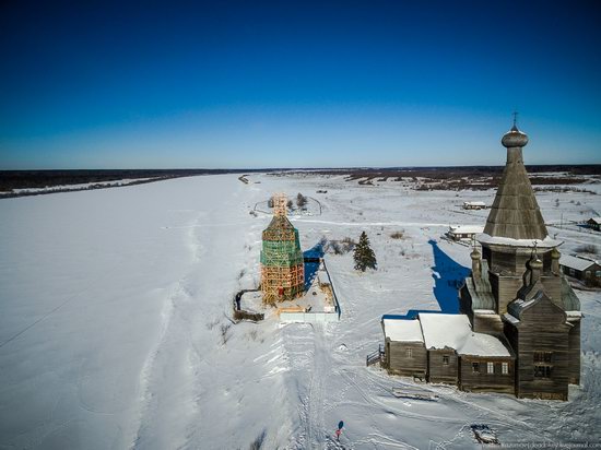
<path id="1" fill-rule="evenodd" d="M 0 191 L 13 189 L 51 188 L 55 186 L 108 182 L 122 179 L 152 178 L 152 180 L 190 177 L 197 175 L 251 174 L 266 171 L 309 171 L 325 175 L 347 175 L 350 179 L 376 177 L 428 177 L 446 178 L 457 176 L 495 177 L 504 166 L 456 166 L 456 167 L 354 167 L 354 168 L 255 168 L 255 169 L 49 169 L 49 170 L 0 170 Z M 568 173 L 571 175 L 601 175 L 601 164 L 584 165 L 531 165 L 531 174 Z"/>

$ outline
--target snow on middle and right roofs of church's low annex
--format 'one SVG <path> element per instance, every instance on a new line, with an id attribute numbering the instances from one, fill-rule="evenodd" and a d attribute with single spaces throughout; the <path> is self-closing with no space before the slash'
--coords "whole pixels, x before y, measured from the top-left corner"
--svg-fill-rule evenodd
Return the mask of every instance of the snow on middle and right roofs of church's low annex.
<path id="1" fill-rule="evenodd" d="M 474 333 L 466 315 L 420 313 L 426 348 L 452 348 L 460 355 L 510 356 L 495 336 Z"/>

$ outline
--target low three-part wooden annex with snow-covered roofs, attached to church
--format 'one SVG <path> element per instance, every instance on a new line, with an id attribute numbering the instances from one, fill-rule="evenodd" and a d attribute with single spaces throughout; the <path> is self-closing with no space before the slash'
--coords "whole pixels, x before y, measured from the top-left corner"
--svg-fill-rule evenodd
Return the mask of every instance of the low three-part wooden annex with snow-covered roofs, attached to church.
<path id="1" fill-rule="evenodd" d="M 382 319 L 390 374 L 457 384 L 464 391 L 514 393 L 515 357 L 500 339 L 472 331 L 464 315 Z"/>

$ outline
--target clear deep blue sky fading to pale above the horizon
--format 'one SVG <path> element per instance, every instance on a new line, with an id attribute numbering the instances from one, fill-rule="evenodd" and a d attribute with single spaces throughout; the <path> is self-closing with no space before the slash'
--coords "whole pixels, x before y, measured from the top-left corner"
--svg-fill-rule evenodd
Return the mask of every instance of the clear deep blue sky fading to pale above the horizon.
<path id="1" fill-rule="evenodd" d="M 119 3 L 0 2 L 0 168 L 601 163 L 598 1 Z"/>

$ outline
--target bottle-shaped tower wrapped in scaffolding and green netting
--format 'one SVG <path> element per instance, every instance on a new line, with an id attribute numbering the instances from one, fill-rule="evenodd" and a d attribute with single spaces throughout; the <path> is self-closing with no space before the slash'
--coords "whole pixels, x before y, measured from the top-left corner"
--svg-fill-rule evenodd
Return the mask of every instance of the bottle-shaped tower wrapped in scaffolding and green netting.
<path id="1" fill-rule="evenodd" d="M 286 217 L 286 197 L 273 197 L 273 218 L 263 230 L 261 291 L 263 301 L 275 304 L 303 295 L 305 270 L 298 230 Z"/>

